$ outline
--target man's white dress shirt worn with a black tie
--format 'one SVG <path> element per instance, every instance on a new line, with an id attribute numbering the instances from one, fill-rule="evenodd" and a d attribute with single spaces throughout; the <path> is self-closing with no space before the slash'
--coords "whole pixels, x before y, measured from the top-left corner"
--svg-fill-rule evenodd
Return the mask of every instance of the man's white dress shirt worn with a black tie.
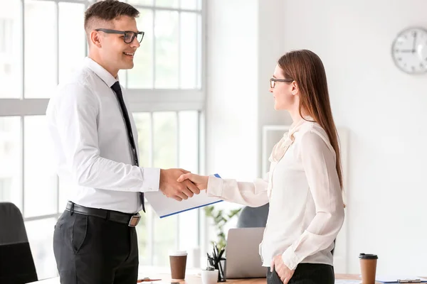
<path id="1" fill-rule="evenodd" d="M 46 110 L 60 181 L 73 185 L 68 200 L 85 207 L 135 213 L 139 192 L 159 190 L 158 168 L 132 165 L 125 121 L 110 72 L 90 58 L 58 85 Z M 122 88 L 125 104 L 125 89 Z M 138 145 L 135 121 L 132 133 Z"/>

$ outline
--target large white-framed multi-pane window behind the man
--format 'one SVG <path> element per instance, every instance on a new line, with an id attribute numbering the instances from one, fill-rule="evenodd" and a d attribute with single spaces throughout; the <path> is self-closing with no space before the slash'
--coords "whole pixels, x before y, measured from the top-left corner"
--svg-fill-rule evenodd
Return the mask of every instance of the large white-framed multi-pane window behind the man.
<path id="1" fill-rule="evenodd" d="M 198 172 L 201 0 L 127 2 L 139 10 L 137 25 L 145 32 L 135 67 L 119 73 L 139 132 L 140 165 Z M 57 273 L 53 226 L 73 190 L 51 162 L 46 107 L 58 82 L 88 53 L 83 16 L 91 3 L 0 1 L 0 201 L 14 202 L 23 212 L 39 279 Z M 167 266 L 169 250 L 197 246 L 198 226 L 196 210 L 159 219 L 148 204 L 137 226 L 141 265 Z"/>

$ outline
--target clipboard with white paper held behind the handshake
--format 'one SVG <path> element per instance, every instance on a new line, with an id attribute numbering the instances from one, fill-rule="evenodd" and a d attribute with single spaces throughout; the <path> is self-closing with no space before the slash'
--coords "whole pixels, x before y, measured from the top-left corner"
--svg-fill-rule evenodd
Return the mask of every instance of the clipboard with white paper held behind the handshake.
<path id="1" fill-rule="evenodd" d="M 215 174 L 214 176 L 216 178 L 221 178 L 218 174 Z M 156 212 L 160 218 L 173 216 L 175 214 L 198 209 L 223 201 L 218 197 L 208 196 L 206 190 L 201 190 L 199 195 L 194 195 L 193 197 L 182 201 L 177 201 L 173 198 L 166 197 L 160 191 L 144 192 L 144 197 L 147 199 L 147 202 L 151 205 L 154 212 Z"/>

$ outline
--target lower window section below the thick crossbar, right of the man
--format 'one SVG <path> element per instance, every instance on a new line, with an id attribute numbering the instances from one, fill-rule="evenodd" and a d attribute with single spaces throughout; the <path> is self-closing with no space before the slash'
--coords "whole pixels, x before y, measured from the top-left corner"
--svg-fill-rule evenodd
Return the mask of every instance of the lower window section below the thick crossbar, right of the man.
<path id="1" fill-rule="evenodd" d="M 134 117 L 142 163 L 192 172 L 199 170 L 198 151 L 195 151 L 199 148 L 199 111 L 141 112 Z M 199 222 L 198 212 L 186 212 L 186 222 L 179 222 L 179 218 L 183 217 L 159 219 L 147 206 L 147 214 L 142 219 L 144 226 L 137 227 L 139 251 L 143 252 L 140 263 L 167 266 L 168 251 L 177 247 L 191 249 L 199 242 L 198 233 L 193 229 Z M 180 232 L 186 232 L 186 239 L 179 238 Z"/>

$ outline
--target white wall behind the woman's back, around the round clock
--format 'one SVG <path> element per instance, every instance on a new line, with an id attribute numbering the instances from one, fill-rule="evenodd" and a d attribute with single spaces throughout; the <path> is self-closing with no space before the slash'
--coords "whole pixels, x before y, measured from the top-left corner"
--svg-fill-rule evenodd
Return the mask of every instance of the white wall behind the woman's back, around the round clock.
<path id="1" fill-rule="evenodd" d="M 285 50 L 322 58 L 338 126 L 349 130 L 347 262 L 377 253 L 378 273 L 426 275 L 427 75 L 406 75 L 391 43 L 427 28 L 425 0 L 285 1 Z M 261 115 L 261 114 L 260 114 Z"/>

